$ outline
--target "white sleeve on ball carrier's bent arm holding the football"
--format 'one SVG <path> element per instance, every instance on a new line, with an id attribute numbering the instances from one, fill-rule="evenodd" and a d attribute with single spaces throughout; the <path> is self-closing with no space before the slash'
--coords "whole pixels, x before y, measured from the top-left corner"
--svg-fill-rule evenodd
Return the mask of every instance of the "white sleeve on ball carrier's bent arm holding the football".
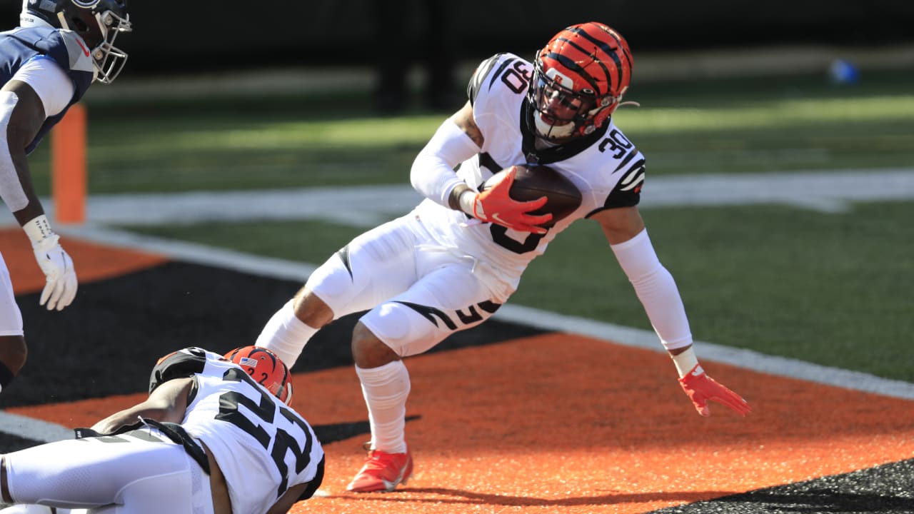
<path id="1" fill-rule="evenodd" d="M 409 180 L 422 196 L 450 209 L 448 197 L 463 181 L 454 173 L 454 166 L 479 153 L 479 146 L 464 133 L 457 123 L 445 120 L 416 156 L 409 171 Z"/>

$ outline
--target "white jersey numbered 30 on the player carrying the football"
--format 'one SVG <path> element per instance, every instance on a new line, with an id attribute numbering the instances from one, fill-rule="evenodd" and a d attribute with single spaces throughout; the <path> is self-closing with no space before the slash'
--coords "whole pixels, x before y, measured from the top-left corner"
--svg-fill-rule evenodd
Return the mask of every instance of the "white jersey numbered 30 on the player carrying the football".
<path id="1" fill-rule="evenodd" d="M 484 145 L 479 154 L 458 167 L 457 175 L 478 190 L 506 167 L 546 165 L 578 187 L 582 196 L 579 209 L 543 235 L 470 220 L 461 211 L 430 199 L 423 200 L 415 211 L 441 245 L 456 247 L 493 268 L 505 283 L 497 294 L 500 300 L 514 292 L 526 266 L 572 222 L 602 209 L 637 205 L 644 179 L 643 155 L 611 120 L 569 144 L 537 149 L 534 132 L 528 128 L 532 114 L 526 100 L 532 74 L 530 62 L 509 53 L 495 55 L 477 68 L 468 92 Z"/>

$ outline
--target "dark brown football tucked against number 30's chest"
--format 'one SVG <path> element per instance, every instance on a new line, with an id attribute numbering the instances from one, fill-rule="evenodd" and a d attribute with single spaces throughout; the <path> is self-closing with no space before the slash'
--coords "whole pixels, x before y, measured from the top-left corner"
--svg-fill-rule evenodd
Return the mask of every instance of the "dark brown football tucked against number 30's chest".
<path id="1" fill-rule="evenodd" d="M 581 196 L 578 187 L 567 177 L 549 166 L 511 166 L 489 177 L 480 187 L 480 192 L 492 187 L 505 178 L 512 167 L 517 168 L 514 184 L 509 194 L 517 201 L 535 200 L 546 197 L 546 205 L 531 214 L 552 213 L 552 220 L 542 226 L 550 228 L 559 220 L 580 207 Z"/>

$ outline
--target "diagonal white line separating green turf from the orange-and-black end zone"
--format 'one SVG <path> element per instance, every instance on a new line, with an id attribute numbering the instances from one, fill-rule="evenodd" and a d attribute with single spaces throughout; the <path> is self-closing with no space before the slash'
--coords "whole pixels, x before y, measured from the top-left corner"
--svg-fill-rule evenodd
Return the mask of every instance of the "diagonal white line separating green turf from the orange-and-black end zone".
<path id="1" fill-rule="evenodd" d="M 69 228 L 64 231 L 74 237 L 155 252 L 168 257 L 283 280 L 304 280 L 316 266 L 302 262 L 266 259 L 242 252 L 232 252 L 186 242 L 167 241 L 129 232 L 102 228 Z M 663 352 L 659 338 L 653 331 L 622 327 L 577 316 L 565 316 L 523 305 L 503 305 L 494 314 L 505 321 L 569 334 L 594 337 L 611 343 Z M 702 361 L 716 361 L 752 369 L 771 375 L 807 380 L 855 391 L 871 392 L 884 396 L 914 400 L 914 383 L 888 380 L 847 369 L 829 368 L 797 359 L 786 359 L 762 354 L 749 349 L 731 348 L 706 341 L 695 342 L 696 352 Z M 673 364 L 670 364 L 671 371 Z"/>

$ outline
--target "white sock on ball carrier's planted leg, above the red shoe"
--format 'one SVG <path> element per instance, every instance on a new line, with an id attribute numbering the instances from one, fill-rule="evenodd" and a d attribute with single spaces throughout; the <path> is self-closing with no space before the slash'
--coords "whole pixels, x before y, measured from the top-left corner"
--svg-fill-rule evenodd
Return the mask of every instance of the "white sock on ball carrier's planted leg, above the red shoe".
<path id="1" fill-rule="evenodd" d="M 384 366 L 362 369 L 362 395 L 368 406 L 371 424 L 371 449 L 388 454 L 406 453 L 406 399 L 409 396 L 409 371 L 402 360 Z"/>

